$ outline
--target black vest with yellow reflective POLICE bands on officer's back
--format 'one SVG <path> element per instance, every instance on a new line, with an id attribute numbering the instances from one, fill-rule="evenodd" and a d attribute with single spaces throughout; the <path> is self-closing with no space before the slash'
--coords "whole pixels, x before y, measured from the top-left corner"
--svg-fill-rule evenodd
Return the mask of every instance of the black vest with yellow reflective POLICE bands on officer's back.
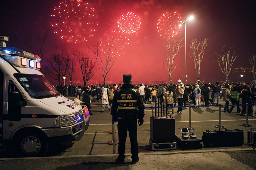
<path id="1" fill-rule="evenodd" d="M 118 89 L 117 96 L 117 109 L 118 112 L 136 112 L 137 110 L 137 95 L 135 94 L 137 90 L 122 90 Z"/>

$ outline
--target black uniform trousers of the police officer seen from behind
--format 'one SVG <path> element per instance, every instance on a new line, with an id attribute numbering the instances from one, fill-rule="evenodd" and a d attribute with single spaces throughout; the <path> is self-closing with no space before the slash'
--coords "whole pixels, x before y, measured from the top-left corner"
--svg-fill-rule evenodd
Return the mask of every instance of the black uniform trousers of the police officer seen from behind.
<path id="1" fill-rule="evenodd" d="M 127 129 L 129 130 L 129 137 L 131 141 L 131 153 L 132 160 L 138 159 L 139 149 L 138 149 L 138 141 L 137 141 L 137 119 L 125 120 L 124 122 L 117 123 L 118 129 L 118 159 L 124 159 L 125 153 L 125 142 L 127 137 Z"/>

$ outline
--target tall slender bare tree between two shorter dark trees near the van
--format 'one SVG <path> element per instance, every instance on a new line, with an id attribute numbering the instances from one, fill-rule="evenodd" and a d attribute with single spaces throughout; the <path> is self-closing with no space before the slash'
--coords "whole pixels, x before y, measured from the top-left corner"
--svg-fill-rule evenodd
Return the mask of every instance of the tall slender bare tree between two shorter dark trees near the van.
<path id="1" fill-rule="evenodd" d="M 82 55 L 82 53 L 74 48 L 72 49 L 71 54 L 68 52 L 68 49 L 64 47 L 59 47 L 59 48 L 55 47 L 55 50 L 63 60 L 67 58 L 68 75 L 70 79 L 70 86 L 72 87 L 72 79 L 76 69 L 76 63 L 80 58 L 80 56 Z M 73 97 L 73 88 L 71 88 L 71 97 Z"/>

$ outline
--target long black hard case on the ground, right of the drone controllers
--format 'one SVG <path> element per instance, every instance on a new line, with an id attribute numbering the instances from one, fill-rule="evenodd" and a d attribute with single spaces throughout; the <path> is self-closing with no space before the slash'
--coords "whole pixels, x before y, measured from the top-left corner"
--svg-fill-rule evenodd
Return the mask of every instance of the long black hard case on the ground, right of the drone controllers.
<path id="1" fill-rule="evenodd" d="M 226 128 L 214 131 L 206 130 L 203 132 L 202 140 L 205 147 L 239 146 L 244 144 L 244 131 Z"/>

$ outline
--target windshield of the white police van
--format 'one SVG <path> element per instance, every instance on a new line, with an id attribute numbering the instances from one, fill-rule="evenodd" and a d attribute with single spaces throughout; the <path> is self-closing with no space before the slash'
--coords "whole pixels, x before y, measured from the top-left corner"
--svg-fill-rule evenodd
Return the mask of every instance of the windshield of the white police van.
<path id="1" fill-rule="evenodd" d="M 14 74 L 23 88 L 35 99 L 57 97 L 60 93 L 42 75 L 35 74 Z"/>

